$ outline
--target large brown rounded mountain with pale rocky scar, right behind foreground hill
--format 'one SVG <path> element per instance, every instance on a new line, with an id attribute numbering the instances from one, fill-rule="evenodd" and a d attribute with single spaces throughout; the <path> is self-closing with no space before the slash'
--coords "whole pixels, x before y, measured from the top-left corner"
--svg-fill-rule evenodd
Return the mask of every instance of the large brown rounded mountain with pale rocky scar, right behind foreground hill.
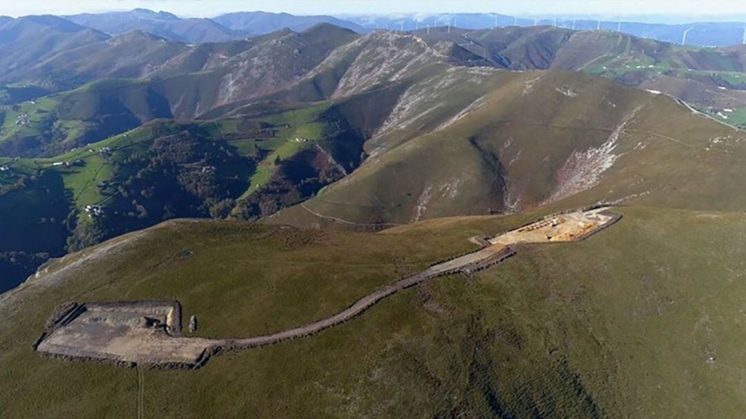
<path id="1" fill-rule="evenodd" d="M 694 209 L 745 204 L 736 186 L 707 185 L 746 175 L 736 163 L 746 153 L 746 136 L 671 98 L 577 73 L 480 78 L 474 78 L 474 92 L 460 89 L 467 96 L 462 110 L 414 112 L 416 123 L 402 116 L 402 122 L 384 124 L 366 142 L 371 157 L 363 166 L 272 222 L 310 226 L 326 218 L 386 226 L 565 199 Z M 393 108 L 416 106 L 416 99 L 401 95 Z M 395 135 L 410 129 L 416 134 Z M 674 163 L 685 161 L 697 164 Z M 707 179 L 698 175 L 703 171 Z"/>

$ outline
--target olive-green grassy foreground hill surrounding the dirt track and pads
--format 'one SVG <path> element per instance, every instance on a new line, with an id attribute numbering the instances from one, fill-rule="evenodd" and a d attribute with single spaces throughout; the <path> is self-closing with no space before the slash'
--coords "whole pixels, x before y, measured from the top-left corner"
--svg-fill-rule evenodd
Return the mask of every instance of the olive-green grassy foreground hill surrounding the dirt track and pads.
<path id="1" fill-rule="evenodd" d="M 199 371 L 145 371 L 145 414 L 738 418 L 743 215 L 619 210 L 622 221 L 587 242 L 520 248 L 474 278 L 426 283 L 311 338 L 229 353 Z M 0 382 L 13 385 L 0 406 L 18 418 L 137 409 L 137 371 L 31 350 L 57 303 L 178 298 L 199 316 L 199 335 L 266 333 L 342 309 L 466 251 L 474 233 L 530 216 L 377 234 L 169 222 L 52 274 L 82 257 L 68 256 L 4 296 Z"/>

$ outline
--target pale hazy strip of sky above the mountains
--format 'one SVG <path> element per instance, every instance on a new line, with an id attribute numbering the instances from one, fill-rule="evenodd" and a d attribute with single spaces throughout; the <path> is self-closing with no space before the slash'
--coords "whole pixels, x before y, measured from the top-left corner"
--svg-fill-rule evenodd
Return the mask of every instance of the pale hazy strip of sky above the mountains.
<path id="1" fill-rule="evenodd" d="M 179 16 L 265 10 L 294 14 L 503 13 L 508 15 L 669 15 L 677 19 L 746 16 L 746 0 L 0 0 L 0 15 L 69 14 L 144 7 Z M 649 18 L 651 19 L 651 18 Z M 654 19 L 663 20 L 656 16 Z M 646 19 L 648 20 L 648 19 Z"/>

